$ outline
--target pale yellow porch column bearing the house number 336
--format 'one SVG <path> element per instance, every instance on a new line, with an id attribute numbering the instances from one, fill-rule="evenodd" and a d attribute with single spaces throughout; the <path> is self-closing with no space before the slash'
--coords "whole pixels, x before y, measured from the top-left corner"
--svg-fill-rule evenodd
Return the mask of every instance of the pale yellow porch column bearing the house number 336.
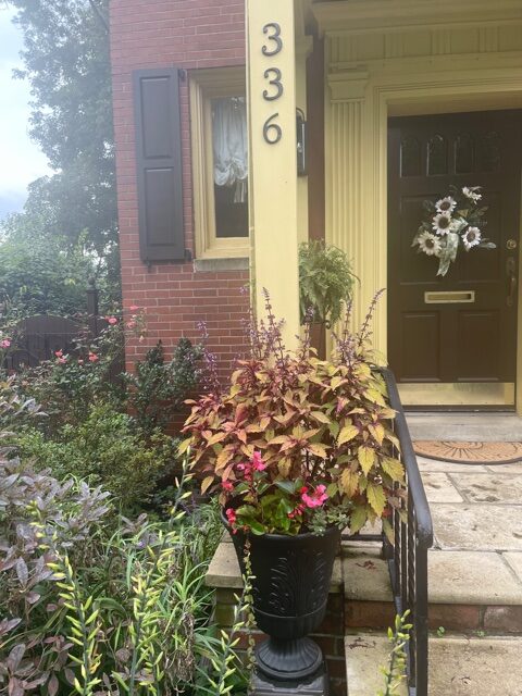
<path id="1" fill-rule="evenodd" d="M 253 299 L 261 318 L 269 290 L 293 348 L 299 333 L 294 0 L 246 0 L 246 17 Z"/>

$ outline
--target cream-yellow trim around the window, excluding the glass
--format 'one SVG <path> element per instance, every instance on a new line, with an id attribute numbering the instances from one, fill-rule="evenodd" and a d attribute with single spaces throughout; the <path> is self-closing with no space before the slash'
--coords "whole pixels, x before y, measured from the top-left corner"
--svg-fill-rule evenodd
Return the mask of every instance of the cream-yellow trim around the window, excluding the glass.
<path id="1" fill-rule="evenodd" d="M 191 71 L 189 80 L 196 258 L 249 257 L 248 237 L 215 235 L 211 112 L 211 99 L 245 96 L 245 67 Z"/>

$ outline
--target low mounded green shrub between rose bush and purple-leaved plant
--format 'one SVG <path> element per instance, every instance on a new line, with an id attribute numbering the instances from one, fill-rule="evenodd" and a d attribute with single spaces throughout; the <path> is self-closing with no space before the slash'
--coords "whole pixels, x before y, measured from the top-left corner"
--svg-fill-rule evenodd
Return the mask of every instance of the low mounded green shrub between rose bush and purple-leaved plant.
<path id="1" fill-rule="evenodd" d="M 20 457 L 63 480 L 67 475 L 103 485 L 123 509 L 151 500 L 161 478 L 174 478 L 175 443 L 160 431 L 146 440 L 130 415 L 108 403 L 95 406 L 79 424 L 63 425 L 52 438 L 27 428 L 10 439 Z"/>

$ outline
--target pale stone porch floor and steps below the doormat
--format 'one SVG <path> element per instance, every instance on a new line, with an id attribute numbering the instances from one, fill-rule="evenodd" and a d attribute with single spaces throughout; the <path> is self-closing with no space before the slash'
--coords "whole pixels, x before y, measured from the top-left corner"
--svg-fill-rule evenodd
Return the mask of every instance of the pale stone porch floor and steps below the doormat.
<path id="1" fill-rule="evenodd" d="M 522 696 L 522 462 L 418 461 L 435 533 L 428 554 L 430 696 Z M 361 614 L 390 601 L 377 548 L 345 544 L 343 580 Z M 385 635 L 348 629 L 345 647 L 348 696 L 376 693 L 389 648 Z"/>

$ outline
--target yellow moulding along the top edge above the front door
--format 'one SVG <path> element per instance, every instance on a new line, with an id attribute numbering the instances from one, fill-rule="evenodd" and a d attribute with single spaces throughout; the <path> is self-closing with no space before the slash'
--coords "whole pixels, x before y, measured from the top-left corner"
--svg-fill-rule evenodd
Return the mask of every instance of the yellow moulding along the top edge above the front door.
<path id="1" fill-rule="evenodd" d="M 522 20 L 521 0 L 314 0 L 312 11 L 328 33 Z"/>

